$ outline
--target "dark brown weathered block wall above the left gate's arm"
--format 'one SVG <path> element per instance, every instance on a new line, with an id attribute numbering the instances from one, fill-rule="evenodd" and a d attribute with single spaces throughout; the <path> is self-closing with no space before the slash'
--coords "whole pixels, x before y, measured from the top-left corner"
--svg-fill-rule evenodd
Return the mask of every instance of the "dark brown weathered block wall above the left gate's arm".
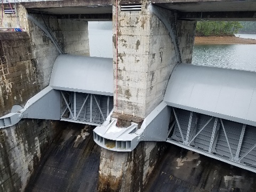
<path id="1" fill-rule="evenodd" d="M 26 32 L 0 32 L 0 116 L 23 105 L 39 90 L 36 66 Z"/>

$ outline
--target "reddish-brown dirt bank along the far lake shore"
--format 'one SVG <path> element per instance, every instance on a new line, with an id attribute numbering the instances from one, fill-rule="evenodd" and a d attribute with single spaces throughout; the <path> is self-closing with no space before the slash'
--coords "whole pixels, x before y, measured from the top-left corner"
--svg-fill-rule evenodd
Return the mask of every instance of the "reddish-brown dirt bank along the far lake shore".
<path id="1" fill-rule="evenodd" d="M 195 44 L 256 44 L 256 39 L 235 36 L 196 36 Z"/>

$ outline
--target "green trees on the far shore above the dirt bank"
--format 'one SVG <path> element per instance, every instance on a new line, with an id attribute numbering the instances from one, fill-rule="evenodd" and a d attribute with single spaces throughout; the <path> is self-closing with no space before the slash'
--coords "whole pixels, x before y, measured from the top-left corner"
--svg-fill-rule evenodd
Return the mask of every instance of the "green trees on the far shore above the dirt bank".
<path id="1" fill-rule="evenodd" d="M 243 28 L 238 21 L 198 21 L 196 25 L 196 35 L 234 35 Z"/>

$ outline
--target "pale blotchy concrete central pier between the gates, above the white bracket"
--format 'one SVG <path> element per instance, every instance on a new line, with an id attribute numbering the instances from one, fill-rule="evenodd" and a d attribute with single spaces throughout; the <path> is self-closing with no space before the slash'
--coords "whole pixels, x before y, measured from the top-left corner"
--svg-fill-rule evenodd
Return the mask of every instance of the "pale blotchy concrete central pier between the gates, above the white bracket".
<path id="1" fill-rule="evenodd" d="M 113 7 L 115 87 L 117 79 L 114 93 L 117 92 L 117 105 L 114 97 L 114 110 L 145 118 L 163 100 L 168 79 L 179 61 L 174 49 L 175 39 L 171 38 L 163 22 L 150 12 L 147 1 L 142 1 L 142 11 L 121 12 L 119 7 L 116 69 L 116 9 Z M 173 27 L 173 12 L 165 9 L 161 12 Z M 182 61 L 190 62 L 195 22 L 177 21 L 177 34 Z"/>

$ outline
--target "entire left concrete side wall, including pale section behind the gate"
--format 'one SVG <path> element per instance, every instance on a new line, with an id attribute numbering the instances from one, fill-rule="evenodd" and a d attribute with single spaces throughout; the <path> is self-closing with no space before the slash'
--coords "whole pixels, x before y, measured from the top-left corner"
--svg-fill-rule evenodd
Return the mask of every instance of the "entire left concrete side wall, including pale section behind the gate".
<path id="1" fill-rule="evenodd" d="M 26 101 L 49 85 L 59 55 L 41 29 L 26 19 L 18 6 L 19 23 L 27 32 L 0 32 L 0 115 Z M 34 15 L 42 24 L 42 15 Z M 87 22 L 60 20 L 44 15 L 53 36 L 66 53 L 89 55 Z M 15 15 L 4 14 L 7 27 L 17 27 Z M 69 30 L 70 29 L 70 30 Z M 53 139 L 62 130 L 57 122 L 23 119 L 0 130 L 0 191 L 24 191 L 28 180 Z"/>

